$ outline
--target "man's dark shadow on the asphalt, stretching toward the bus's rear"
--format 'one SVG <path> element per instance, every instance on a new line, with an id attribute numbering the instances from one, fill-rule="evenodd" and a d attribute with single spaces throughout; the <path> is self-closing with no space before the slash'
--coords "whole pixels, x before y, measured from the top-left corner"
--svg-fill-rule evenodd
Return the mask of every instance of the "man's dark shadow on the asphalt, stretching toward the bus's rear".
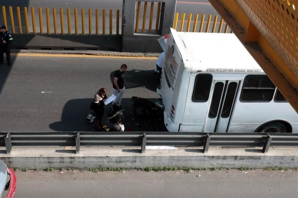
<path id="1" fill-rule="evenodd" d="M 110 80 L 113 84 L 114 72 L 110 74 Z M 158 82 L 158 74 L 154 70 L 137 70 L 133 69 L 124 73 L 125 89 L 144 87 L 150 91 L 156 92 L 156 88 L 160 85 Z"/>

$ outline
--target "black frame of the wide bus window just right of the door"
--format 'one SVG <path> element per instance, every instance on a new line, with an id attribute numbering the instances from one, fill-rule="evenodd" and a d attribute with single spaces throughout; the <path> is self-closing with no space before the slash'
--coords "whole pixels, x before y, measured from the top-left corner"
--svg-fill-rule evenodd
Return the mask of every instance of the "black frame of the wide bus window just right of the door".
<path id="1" fill-rule="evenodd" d="M 256 86 L 255 87 L 245 87 L 245 85 L 248 84 L 248 83 L 246 83 L 247 78 L 255 77 L 255 76 L 259 77 L 258 87 L 256 87 Z M 271 102 L 272 101 L 272 99 L 274 97 L 276 87 L 270 79 L 269 80 L 271 82 L 271 85 L 273 85 L 274 88 L 273 87 L 262 87 L 261 86 L 262 80 L 263 80 L 263 83 L 265 82 L 264 77 L 265 78 L 267 77 L 269 79 L 269 77 L 267 75 L 264 75 L 264 74 L 249 74 L 249 75 L 245 76 L 244 81 L 243 81 L 243 85 L 242 85 L 241 95 L 240 95 L 240 98 L 239 98 L 241 102 Z M 272 93 L 271 93 L 272 96 L 270 97 L 270 100 L 263 100 L 263 101 L 262 100 L 243 100 L 243 91 L 244 90 L 272 90 Z"/>

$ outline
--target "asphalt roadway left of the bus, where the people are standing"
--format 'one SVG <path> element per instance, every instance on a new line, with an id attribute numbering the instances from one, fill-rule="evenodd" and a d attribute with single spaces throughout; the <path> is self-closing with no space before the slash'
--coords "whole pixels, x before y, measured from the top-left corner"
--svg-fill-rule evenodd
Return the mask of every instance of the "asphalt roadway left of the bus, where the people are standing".
<path id="1" fill-rule="evenodd" d="M 131 101 L 132 96 L 159 101 L 154 82 L 156 58 L 29 54 L 12 58 L 12 67 L 0 66 L 0 131 L 91 131 L 95 124 L 86 118 L 92 112 L 94 94 L 102 87 L 107 88 L 107 95 L 112 94 L 111 72 L 123 63 L 128 65 L 122 100 L 125 130 L 164 131 L 156 120 L 135 117 Z"/>

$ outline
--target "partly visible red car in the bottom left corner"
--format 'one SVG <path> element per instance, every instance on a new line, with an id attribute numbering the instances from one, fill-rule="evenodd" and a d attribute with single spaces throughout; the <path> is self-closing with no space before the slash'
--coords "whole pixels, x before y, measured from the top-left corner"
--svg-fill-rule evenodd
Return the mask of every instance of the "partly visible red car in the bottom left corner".
<path id="1" fill-rule="evenodd" d="M 8 175 L 10 178 L 8 178 Z M 6 190 L 8 190 L 7 198 L 12 198 L 15 195 L 16 174 L 11 168 L 8 168 L 2 160 L 0 160 L 0 197 L 2 197 L 3 191 Z"/>

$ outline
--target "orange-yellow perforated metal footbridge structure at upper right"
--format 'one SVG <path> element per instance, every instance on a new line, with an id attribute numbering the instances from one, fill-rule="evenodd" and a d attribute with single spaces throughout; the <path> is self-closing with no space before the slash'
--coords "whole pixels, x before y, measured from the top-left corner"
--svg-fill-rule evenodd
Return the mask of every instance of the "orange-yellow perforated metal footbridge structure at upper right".
<path id="1" fill-rule="evenodd" d="M 209 1 L 298 113 L 298 2 Z"/>

